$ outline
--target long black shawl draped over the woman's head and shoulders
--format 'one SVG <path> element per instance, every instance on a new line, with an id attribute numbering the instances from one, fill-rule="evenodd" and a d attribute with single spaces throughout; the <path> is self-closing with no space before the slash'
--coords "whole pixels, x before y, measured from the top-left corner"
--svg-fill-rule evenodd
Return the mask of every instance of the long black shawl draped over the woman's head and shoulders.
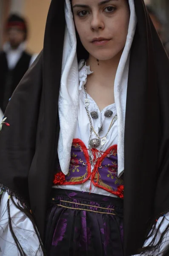
<path id="1" fill-rule="evenodd" d="M 43 241 L 59 136 L 63 6 L 52 0 L 43 52 L 15 90 L 5 113 L 10 126 L 0 133 L 0 182 L 29 202 Z M 124 142 L 125 256 L 137 254 L 149 223 L 169 209 L 169 59 L 143 0 L 135 0 L 135 9 Z"/>

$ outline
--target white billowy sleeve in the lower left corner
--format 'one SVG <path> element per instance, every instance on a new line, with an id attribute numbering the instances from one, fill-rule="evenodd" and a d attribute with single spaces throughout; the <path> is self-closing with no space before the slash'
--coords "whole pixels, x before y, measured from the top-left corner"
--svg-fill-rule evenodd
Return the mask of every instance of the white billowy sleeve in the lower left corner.
<path id="1" fill-rule="evenodd" d="M 0 256 L 18 256 L 17 246 L 9 229 L 9 215 L 7 211 L 8 193 L 2 195 L 0 205 Z M 17 203 L 17 200 L 15 203 Z M 17 209 L 10 199 L 10 214 L 12 227 L 20 245 L 24 248 L 26 256 L 43 256 L 39 249 L 39 240 L 29 218 Z M 39 250 L 38 250 L 39 249 Z M 37 253 L 37 254 L 36 254 Z"/>

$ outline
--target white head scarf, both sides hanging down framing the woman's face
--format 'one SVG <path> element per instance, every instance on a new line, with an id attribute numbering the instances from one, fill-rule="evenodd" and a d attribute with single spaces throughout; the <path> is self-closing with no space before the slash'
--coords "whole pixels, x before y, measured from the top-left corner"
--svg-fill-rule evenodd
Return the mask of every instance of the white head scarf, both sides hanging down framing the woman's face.
<path id="1" fill-rule="evenodd" d="M 126 45 L 117 68 L 115 77 L 115 104 L 118 116 L 118 176 L 124 171 L 124 124 L 126 112 L 126 90 L 128 81 L 129 52 L 135 34 L 137 18 L 134 1 L 129 0 L 130 21 Z M 76 35 L 73 16 L 69 0 L 66 0 L 66 35 L 63 48 L 63 73 L 59 95 L 60 136 L 58 142 L 58 156 L 62 172 L 69 172 L 70 151 L 74 130 L 77 126 L 78 101 L 78 65 L 76 57 Z"/>

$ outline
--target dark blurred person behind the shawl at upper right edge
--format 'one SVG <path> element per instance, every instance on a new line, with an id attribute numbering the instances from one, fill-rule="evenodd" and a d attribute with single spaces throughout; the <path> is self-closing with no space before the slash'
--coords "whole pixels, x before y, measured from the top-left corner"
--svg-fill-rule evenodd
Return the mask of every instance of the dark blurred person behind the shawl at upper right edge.
<path id="1" fill-rule="evenodd" d="M 149 12 L 149 15 L 150 15 L 150 18 L 152 20 L 152 23 L 153 25 L 155 26 L 155 29 L 157 30 L 158 32 L 158 35 L 163 43 L 163 46 L 165 47 L 168 55 L 169 55 L 169 51 L 168 51 L 168 47 L 167 47 L 167 44 L 168 44 L 168 41 L 166 40 L 166 35 L 165 35 L 165 32 L 164 32 L 164 24 L 163 24 L 163 20 L 161 20 L 161 18 L 159 17 L 159 15 L 154 11 L 154 9 L 152 8 L 152 6 L 150 5 L 147 5 L 146 6 L 148 12 Z"/>

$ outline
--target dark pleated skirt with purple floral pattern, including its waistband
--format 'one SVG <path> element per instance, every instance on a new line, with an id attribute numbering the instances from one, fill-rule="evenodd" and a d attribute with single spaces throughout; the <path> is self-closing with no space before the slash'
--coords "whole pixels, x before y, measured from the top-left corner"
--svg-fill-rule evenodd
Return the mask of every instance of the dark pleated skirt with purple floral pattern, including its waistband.
<path id="1" fill-rule="evenodd" d="M 123 200 L 52 189 L 47 256 L 123 256 Z"/>

